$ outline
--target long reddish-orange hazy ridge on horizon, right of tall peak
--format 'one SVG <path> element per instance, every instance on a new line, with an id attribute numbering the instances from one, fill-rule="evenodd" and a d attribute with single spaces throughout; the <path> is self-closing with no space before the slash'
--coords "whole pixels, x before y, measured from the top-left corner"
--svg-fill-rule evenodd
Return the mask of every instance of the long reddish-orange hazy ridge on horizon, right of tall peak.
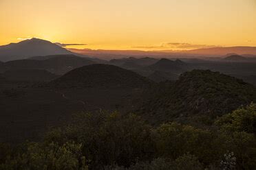
<path id="1" fill-rule="evenodd" d="M 69 49 L 74 53 L 81 53 L 83 55 L 94 56 L 103 59 L 125 58 L 127 56 L 145 57 L 151 56 L 153 58 L 167 58 L 167 57 L 222 57 L 227 53 L 236 53 L 237 55 L 255 56 L 256 47 L 213 47 L 204 49 L 192 50 L 159 50 L 159 51 L 140 51 L 140 50 L 104 50 L 104 49 Z"/>

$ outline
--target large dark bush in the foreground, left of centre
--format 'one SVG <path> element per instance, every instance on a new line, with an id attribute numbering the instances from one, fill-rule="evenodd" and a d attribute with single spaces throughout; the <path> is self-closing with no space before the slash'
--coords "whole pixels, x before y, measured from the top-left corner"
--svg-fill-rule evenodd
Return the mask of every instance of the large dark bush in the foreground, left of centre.
<path id="1" fill-rule="evenodd" d="M 89 167 L 103 169 L 109 165 L 129 167 L 138 160 L 150 160 L 155 153 L 151 126 L 135 114 L 118 112 L 82 113 L 64 130 L 54 130 L 47 141 L 76 141 L 83 144 Z"/>

